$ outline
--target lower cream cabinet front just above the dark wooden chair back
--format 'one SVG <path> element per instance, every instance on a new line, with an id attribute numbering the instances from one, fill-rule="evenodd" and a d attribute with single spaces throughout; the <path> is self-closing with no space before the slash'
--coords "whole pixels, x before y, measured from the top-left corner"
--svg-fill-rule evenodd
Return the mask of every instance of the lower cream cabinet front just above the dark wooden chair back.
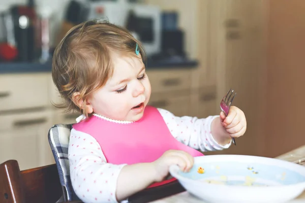
<path id="1" fill-rule="evenodd" d="M 47 131 L 50 111 L 0 115 L 0 162 L 16 159 L 20 169 L 54 163 Z"/>

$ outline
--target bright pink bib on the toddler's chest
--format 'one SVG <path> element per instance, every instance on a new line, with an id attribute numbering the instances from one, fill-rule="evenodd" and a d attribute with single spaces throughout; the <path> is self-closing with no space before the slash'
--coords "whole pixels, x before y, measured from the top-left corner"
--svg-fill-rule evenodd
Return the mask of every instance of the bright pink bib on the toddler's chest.
<path id="1" fill-rule="evenodd" d="M 177 141 L 155 107 L 147 106 L 143 117 L 136 122 L 115 123 L 91 116 L 87 121 L 74 124 L 73 128 L 93 136 L 100 144 L 108 163 L 152 162 L 167 150 L 183 150 L 193 157 L 203 155 Z M 175 179 L 166 182 L 173 180 Z"/>

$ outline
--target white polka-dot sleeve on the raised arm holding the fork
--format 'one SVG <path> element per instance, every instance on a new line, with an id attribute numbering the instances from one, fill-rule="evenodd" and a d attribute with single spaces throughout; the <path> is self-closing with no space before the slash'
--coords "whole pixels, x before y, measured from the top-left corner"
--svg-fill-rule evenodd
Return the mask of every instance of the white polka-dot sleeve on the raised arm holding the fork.
<path id="1" fill-rule="evenodd" d="M 212 120 L 219 116 L 197 117 L 174 116 L 171 112 L 158 109 L 172 136 L 179 142 L 200 151 L 216 151 L 227 149 L 231 145 L 220 145 L 211 134 Z"/>

